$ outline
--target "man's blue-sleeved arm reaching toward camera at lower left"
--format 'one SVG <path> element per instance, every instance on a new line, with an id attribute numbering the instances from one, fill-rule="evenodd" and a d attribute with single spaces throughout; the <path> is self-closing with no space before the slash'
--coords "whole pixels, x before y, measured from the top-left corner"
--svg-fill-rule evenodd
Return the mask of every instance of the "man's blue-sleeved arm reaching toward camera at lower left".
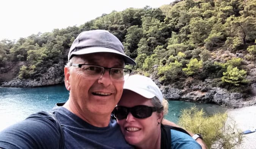
<path id="1" fill-rule="evenodd" d="M 59 142 L 57 124 L 47 115 L 30 115 L 0 132 L 0 149 L 59 148 Z"/>

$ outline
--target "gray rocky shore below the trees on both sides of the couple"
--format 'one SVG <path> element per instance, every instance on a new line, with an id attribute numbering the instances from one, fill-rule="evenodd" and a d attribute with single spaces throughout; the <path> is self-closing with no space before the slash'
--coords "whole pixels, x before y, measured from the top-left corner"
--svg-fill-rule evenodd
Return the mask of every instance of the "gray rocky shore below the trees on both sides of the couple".
<path id="1" fill-rule="evenodd" d="M 19 63 L 22 65 L 22 63 Z M 46 73 L 40 74 L 40 77 L 22 79 L 18 77 L 2 83 L 2 87 L 39 87 L 64 83 L 64 63 L 59 63 L 47 69 Z M 10 72 L 2 71 L 0 77 L 5 78 Z M 256 69 L 250 72 L 250 80 L 255 80 Z M 212 79 L 201 81 L 192 77 L 188 77 L 181 82 L 182 89 L 177 88 L 173 84 L 160 83 L 157 78 L 156 71 L 151 74 L 151 78 L 160 87 L 163 96 L 167 100 L 183 100 L 197 103 L 215 103 L 219 106 L 227 108 L 242 108 L 256 104 L 256 83 L 251 83 L 248 88 L 251 89 L 251 95 L 244 95 L 239 92 L 229 92 L 224 88 L 213 87 L 215 83 Z"/>

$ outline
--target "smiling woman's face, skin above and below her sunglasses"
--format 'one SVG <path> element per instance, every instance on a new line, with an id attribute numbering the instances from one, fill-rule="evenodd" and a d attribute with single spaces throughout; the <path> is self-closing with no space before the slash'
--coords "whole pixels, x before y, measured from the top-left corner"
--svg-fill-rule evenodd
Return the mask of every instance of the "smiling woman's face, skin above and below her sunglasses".
<path id="1" fill-rule="evenodd" d="M 130 108 L 137 105 L 153 106 L 151 99 L 144 98 L 135 92 L 124 90 L 118 106 Z M 162 117 L 162 114 L 158 114 L 157 112 L 153 112 L 147 118 L 135 118 L 129 113 L 127 118 L 117 119 L 117 122 L 121 127 L 126 141 L 129 144 L 139 147 L 152 144 L 157 140 L 161 133 L 159 123 Z"/>

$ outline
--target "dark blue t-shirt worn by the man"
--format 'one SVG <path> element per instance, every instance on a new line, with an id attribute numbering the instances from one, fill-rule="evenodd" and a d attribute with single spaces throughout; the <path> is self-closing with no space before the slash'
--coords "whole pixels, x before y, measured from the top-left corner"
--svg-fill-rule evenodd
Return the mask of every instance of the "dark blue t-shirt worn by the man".
<path id="1" fill-rule="evenodd" d="M 107 127 L 95 127 L 86 123 L 68 109 L 54 109 L 64 132 L 65 149 L 127 149 L 116 120 Z M 60 131 L 55 120 L 44 112 L 30 115 L 26 120 L 0 132 L 0 148 L 3 149 L 58 149 Z"/>

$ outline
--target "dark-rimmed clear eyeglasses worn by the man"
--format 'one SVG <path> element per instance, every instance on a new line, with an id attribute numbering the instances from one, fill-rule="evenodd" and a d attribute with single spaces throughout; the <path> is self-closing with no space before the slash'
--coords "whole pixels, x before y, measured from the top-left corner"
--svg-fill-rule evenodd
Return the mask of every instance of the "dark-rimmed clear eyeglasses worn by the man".
<path id="1" fill-rule="evenodd" d="M 105 69 L 109 69 L 110 78 L 114 81 L 124 81 L 129 77 L 130 73 L 132 72 L 131 69 L 126 68 L 107 68 L 89 64 L 71 64 L 71 66 L 81 68 L 85 77 L 92 79 L 101 78 L 104 74 Z"/>

